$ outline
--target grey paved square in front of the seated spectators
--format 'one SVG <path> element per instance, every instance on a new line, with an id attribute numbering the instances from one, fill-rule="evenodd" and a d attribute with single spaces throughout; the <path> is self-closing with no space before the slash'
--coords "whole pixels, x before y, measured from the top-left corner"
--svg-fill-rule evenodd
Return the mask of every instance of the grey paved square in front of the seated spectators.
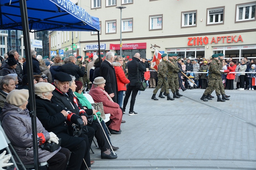
<path id="1" fill-rule="evenodd" d="M 157 98 L 160 90 L 157 93 Z M 122 134 L 111 135 L 117 159 L 101 159 L 92 144 L 92 169 L 256 169 L 256 90 L 226 90 L 229 101 L 200 100 L 204 89 L 186 90 L 174 101 L 151 99 L 153 88 L 129 104 Z M 130 101 L 129 101 L 130 102 Z M 96 141 L 96 139 L 95 139 Z"/>

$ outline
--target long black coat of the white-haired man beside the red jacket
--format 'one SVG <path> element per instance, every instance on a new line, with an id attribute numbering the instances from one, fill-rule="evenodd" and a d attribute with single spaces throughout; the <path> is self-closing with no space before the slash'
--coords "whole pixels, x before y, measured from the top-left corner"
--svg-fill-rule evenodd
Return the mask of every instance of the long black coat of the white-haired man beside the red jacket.
<path id="1" fill-rule="evenodd" d="M 105 87 L 104 87 L 105 91 L 108 94 L 114 93 L 115 96 L 112 98 L 112 100 L 115 103 L 117 103 L 118 90 L 117 90 L 116 72 L 114 67 L 106 60 L 104 60 L 101 63 L 101 76 L 106 80 Z"/>

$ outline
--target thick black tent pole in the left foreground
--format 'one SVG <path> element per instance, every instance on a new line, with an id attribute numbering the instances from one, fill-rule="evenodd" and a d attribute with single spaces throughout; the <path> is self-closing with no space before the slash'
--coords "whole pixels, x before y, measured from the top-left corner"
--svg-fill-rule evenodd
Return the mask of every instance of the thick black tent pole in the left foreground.
<path id="1" fill-rule="evenodd" d="M 24 35 L 25 54 L 27 62 L 27 74 L 28 74 L 28 89 L 29 89 L 29 105 L 32 123 L 32 138 L 33 138 L 33 152 L 34 152 L 34 169 L 39 169 L 39 158 L 38 158 L 38 145 L 37 145 L 37 114 L 35 112 L 35 96 L 34 96 L 34 80 L 33 80 L 33 66 L 32 57 L 30 55 L 30 39 L 29 39 L 29 25 L 28 25 L 28 12 L 26 0 L 19 0 L 20 13 L 22 19 L 22 28 Z"/>

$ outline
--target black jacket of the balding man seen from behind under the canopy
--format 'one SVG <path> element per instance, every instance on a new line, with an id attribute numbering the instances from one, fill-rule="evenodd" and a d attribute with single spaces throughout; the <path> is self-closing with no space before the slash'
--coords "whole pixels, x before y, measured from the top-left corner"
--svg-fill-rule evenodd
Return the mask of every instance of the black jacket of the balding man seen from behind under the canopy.
<path id="1" fill-rule="evenodd" d="M 72 62 L 68 62 L 67 64 L 62 65 L 60 70 L 62 72 L 73 75 L 76 81 L 78 81 L 80 77 L 84 77 L 85 73 L 85 67 L 81 67 L 80 69 L 79 66 L 75 65 Z"/>

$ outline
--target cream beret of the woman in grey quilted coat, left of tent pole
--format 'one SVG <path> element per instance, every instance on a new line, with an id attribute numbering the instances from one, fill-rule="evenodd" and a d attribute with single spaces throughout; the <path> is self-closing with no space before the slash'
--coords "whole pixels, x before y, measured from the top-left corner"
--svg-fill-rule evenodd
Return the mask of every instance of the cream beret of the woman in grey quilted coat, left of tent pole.
<path id="1" fill-rule="evenodd" d="M 12 90 L 6 96 L 6 102 L 14 106 L 21 106 L 28 100 L 29 94 L 27 89 Z"/>

